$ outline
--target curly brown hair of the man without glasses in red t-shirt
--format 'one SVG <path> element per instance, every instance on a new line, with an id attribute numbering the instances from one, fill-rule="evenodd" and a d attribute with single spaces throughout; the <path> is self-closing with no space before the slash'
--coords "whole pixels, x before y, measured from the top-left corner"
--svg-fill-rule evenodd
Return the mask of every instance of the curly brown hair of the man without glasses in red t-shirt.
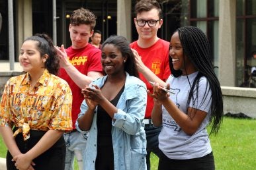
<path id="1" fill-rule="evenodd" d="M 95 28 L 97 16 L 89 9 L 77 9 L 73 11 L 70 17 L 70 24 L 72 26 L 79 26 L 80 24 L 90 25 L 91 30 Z"/>

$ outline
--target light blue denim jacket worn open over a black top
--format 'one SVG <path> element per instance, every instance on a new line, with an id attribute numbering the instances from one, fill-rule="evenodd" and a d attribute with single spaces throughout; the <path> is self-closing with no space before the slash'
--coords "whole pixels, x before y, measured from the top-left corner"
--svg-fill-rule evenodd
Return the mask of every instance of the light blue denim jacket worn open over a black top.
<path id="1" fill-rule="evenodd" d="M 101 88 L 107 76 L 92 82 Z M 147 92 L 146 85 L 139 78 L 130 76 L 126 72 L 124 92 L 116 105 L 117 113 L 112 121 L 112 144 L 114 149 L 114 169 L 116 170 L 144 170 L 146 168 L 146 133 L 142 123 L 146 111 Z M 81 113 L 87 109 L 85 100 L 81 104 Z M 85 149 L 85 169 L 95 169 L 97 157 L 97 107 L 89 131 L 79 128 L 76 121 L 75 127 L 79 132 L 87 133 L 87 146 Z"/>

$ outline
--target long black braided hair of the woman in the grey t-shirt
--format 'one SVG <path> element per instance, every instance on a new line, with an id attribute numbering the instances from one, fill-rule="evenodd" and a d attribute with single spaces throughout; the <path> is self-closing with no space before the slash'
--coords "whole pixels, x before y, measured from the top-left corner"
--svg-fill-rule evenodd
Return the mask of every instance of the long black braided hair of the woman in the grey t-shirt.
<path id="1" fill-rule="evenodd" d="M 218 81 L 218 78 L 214 73 L 214 67 L 212 65 L 210 57 L 210 45 L 208 39 L 204 32 L 202 32 L 202 30 L 194 26 L 185 26 L 182 28 L 178 28 L 176 32 L 178 32 L 179 34 L 179 40 L 181 41 L 181 45 L 183 47 L 184 61 L 185 56 L 187 56 L 191 63 L 194 65 L 194 67 L 196 67 L 196 70 L 198 71 L 198 74 L 196 75 L 196 78 L 192 82 L 192 85 L 191 82 L 189 82 L 189 84 L 191 85 L 191 90 L 189 92 L 187 108 L 189 107 L 191 99 L 192 103 L 195 103 L 193 90 L 196 89 L 197 96 L 200 78 L 202 76 L 205 76 L 208 80 L 208 85 L 210 86 L 209 88 L 212 91 L 212 103 L 210 107 L 210 124 L 212 125 L 212 129 L 210 131 L 210 134 L 216 134 L 220 128 L 224 115 L 223 97 L 220 88 L 220 82 Z M 171 73 L 174 77 L 179 77 L 182 75 L 181 70 L 175 71 L 175 69 L 173 69 L 171 57 L 169 57 L 169 65 L 171 68 Z M 185 70 L 185 72 L 187 71 Z M 208 92 L 204 92 L 204 99 L 206 99 L 207 94 Z"/>

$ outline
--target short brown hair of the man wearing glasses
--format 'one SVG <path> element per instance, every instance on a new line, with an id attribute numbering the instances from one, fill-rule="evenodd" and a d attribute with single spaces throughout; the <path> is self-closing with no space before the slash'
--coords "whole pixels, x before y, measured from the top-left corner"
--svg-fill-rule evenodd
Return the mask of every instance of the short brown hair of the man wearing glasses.
<path id="1" fill-rule="evenodd" d="M 157 9 L 159 19 L 162 18 L 162 10 L 160 4 L 156 0 L 141 0 L 135 5 L 135 16 L 144 11 L 150 11 L 151 9 Z"/>

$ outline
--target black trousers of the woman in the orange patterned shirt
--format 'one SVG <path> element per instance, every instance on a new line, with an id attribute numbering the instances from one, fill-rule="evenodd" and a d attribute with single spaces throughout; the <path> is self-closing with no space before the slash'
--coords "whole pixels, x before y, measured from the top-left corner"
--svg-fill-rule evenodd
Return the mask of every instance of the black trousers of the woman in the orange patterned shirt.
<path id="1" fill-rule="evenodd" d="M 17 146 L 21 150 L 22 154 L 25 154 L 44 136 L 46 131 L 30 130 L 30 138 L 24 141 L 22 133 L 19 133 L 15 141 Z M 7 170 L 17 170 L 15 167 L 15 161 L 11 161 L 13 156 L 7 151 L 6 157 Z M 46 152 L 36 157 L 34 160 L 34 169 L 36 170 L 64 170 L 65 168 L 65 140 L 62 136 L 54 146 L 49 148 Z"/>

